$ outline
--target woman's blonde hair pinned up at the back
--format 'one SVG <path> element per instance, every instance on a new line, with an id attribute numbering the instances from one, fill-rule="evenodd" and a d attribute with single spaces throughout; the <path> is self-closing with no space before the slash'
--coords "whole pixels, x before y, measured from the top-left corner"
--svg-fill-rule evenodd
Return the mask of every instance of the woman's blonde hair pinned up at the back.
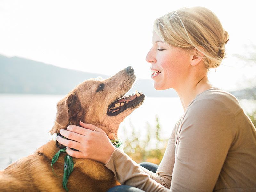
<path id="1" fill-rule="evenodd" d="M 194 48 L 203 53 L 207 72 L 216 68 L 225 58 L 228 32 L 220 20 L 205 7 L 183 7 L 154 21 L 154 31 L 164 43 L 179 47 L 192 54 Z M 203 47 L 200 50 L 199 46 Z M 196 53 L 199 56 L 199 53 Z"/>

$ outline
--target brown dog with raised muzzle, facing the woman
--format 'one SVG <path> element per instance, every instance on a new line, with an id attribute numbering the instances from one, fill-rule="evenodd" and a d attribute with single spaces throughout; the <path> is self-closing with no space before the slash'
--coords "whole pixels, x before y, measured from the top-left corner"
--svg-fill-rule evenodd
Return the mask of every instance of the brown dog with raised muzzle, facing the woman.
<path id="1" fill-rule="evenodd" d="M 57 104 L 56 122 L 50 133 L 59 133 L 79 121 L 100 127 L 110 139 L 117 139 L 119 124 L 139 107 L 142 93 L 125 96 L 135 81 L 131 66 L 108 78 L 92 78 L 77 85 Z M 103 146 L 101 146 L 103 147 Z M 60 150 L 51 140 L 36 152 L 0 171 L 0 191 L 65 191 L 62 187 L 65 153 L 60 154 L 52 172 L 52 157 Z M 74 169 L 67 188 L 72 191 L 107 191 L 118 185 L 113 172 L 102 163 L 73 157 Z"/>

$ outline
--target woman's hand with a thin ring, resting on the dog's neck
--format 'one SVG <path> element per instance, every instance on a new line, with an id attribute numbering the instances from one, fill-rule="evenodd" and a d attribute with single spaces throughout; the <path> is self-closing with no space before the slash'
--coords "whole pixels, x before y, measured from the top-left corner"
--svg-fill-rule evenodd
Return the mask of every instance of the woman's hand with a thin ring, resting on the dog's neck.
<path id="1" fill-rule="evenodd" d="M 60 130 L 61 135 L 71 140 L 61 137 L 57 137 L 56 140 L 67 146 L 67 153 L 72 157 L 89 158 L 107 164 L 116 147 L 99 127 L 95 130 L 95 125 L 81 121 L 80 125 L 82 127 L 68 125 L 67 130 Z"/>

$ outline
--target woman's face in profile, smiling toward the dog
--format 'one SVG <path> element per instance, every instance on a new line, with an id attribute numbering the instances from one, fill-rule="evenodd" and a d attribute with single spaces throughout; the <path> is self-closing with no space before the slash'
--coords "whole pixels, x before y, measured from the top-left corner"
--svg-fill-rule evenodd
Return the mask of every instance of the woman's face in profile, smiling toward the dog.
<path id="1" fill-rule="evenodd" d="M 146 61 L 151 64 L 154 88 L 175 89 L 185 83 L 184 80 L 189 74 L 189 58 L 183 49 L 164 44 L 153 30 L 152 48 L 146 56 Z"/>

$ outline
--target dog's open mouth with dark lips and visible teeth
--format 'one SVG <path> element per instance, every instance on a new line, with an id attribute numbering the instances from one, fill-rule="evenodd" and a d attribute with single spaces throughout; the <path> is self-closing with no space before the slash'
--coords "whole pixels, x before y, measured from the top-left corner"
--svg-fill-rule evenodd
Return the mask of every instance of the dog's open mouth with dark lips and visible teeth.
<path id="1" fill-rule="evenodd" d="M 135 107 L 136 105 L 140 104 L 145 98 L 145 95 L 139 93 L 136 90 L 134 95 L 124 96 L 116 101 L 114 101 L 109 107 L 107 114 L 109 116 L 115 116 L 119 113 L 122 113 L 124 110 Z"/>

